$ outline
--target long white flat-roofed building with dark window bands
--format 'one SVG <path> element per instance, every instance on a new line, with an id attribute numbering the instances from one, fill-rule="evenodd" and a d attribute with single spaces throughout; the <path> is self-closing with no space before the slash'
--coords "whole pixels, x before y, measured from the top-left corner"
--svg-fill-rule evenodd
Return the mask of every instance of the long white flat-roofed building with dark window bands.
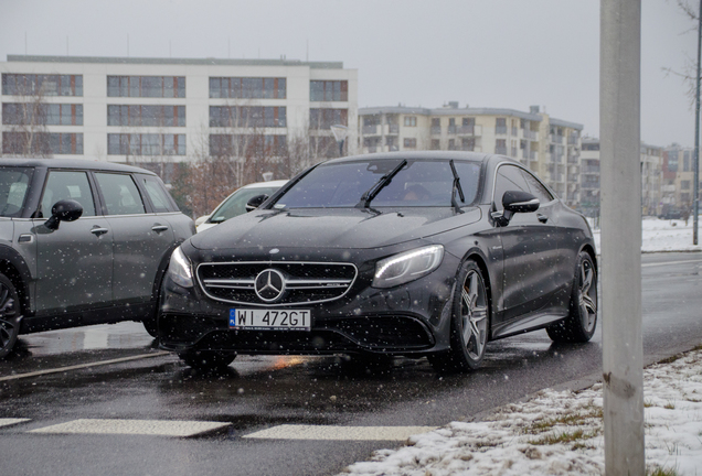
<path id="1" fill-rule="evenodd" d="M 181 162 L 252 141 L 283 156 L 292 140 L 337 156 L 330 126 L 358 121 L 341 62 L 8 55 L 0 73 L 6 156 Z"/>

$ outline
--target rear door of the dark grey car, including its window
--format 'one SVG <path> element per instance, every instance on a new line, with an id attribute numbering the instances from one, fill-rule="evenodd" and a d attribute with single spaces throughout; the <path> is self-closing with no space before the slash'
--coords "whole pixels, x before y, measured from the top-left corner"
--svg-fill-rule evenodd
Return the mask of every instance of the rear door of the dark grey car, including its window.
<path id="1" fill-rule="evenodd" d="M 161 258 L 173 242 L 172 227 L 147 207 L 131 174 L 95 172 L 95 177 L 114 230 L 113 298 L 149 301 Z"/>

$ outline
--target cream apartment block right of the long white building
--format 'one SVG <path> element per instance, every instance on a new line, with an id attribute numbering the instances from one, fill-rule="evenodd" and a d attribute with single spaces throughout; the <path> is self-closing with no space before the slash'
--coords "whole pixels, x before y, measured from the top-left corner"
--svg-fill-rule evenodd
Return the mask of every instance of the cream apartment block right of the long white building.
<path id="1" fill-rule="evenodd" d="M 566 203 L 579 202 L 579 150 L 583 126 L 549 117 L 538 106 L 529 112 L 499 108 L 406 106 L 359 109 L 359 150 L 464 150 L 498 153 L 521 161 Z"/>

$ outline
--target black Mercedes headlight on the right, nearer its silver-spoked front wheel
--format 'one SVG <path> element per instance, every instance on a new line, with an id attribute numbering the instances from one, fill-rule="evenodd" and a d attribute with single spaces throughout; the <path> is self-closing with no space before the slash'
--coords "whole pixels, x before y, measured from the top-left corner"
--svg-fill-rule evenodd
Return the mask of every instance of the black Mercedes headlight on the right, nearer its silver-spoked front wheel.
<path id="1" fill-rule="evenodd" d="M 373 288 L 392 288 L 414 281 L 437 269 L 444 247 L 432 245 L 380 260 L 375 264 Z"/>

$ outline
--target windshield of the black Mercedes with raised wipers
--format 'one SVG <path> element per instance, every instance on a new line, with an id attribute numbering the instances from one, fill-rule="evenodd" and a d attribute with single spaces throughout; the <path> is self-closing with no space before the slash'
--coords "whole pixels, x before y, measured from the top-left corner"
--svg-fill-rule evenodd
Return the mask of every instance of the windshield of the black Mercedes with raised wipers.
<path id="1" fill-rule="evenodd" d="M 365 192 L 401 162 L 398 159 L 354 161 L 320 165 L 305 175 L 280 196 L 275 208 L 344 208 L 354 207 Z M 469 205 L 476 198 L 480 163 L 456 161 L 456 170 Z M 407 161 L 373 198 L 372 207 L 451 206 L 454 175 L 449 161 Z"/>

